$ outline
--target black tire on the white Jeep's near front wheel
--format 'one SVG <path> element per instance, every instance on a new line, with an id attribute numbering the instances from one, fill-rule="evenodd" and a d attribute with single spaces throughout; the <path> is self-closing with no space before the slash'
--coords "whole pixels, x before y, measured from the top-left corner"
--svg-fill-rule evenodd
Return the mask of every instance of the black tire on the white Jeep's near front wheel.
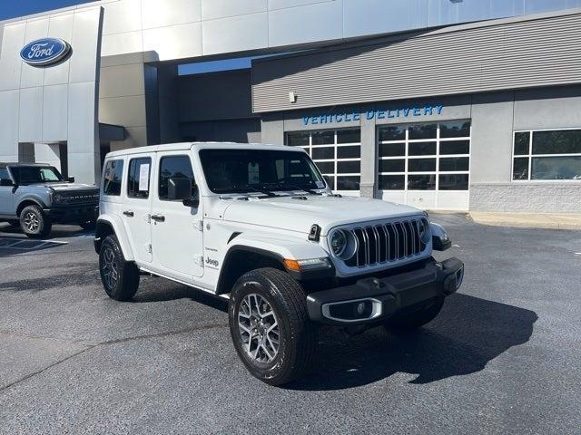
<path id="1" fill-rule="evenodd" d="M 253 297 L 251 295 L 260 295 L 262 300 L 271 305 L 271 311 L 276 316 L 279 346 L 271 361 L 261 362 L 253 358 L 244 341 L 243 334 L 250 337 L 250 333 L 245 333 L 241 328 L 239 314 L 241 310 L 242 315 L 248 312 L 244 299 L 247 296 Z M 228 317 L 236 353 L 248 371 L 262 382 L 283 385 L 300 378 L 310 369 L 317 347 L 318 327 L 310 322 L 307 314 L 307 295 L 288 274 L 264 267 L 242 275 L 232 288 Z M 241 319 L 243 321 L 244 318 Z M 262 332 L 264 331 L 263 329 Z M 268 334 L 266 332 L 266 340 Z M 260 343 L 257 335 L 255 340 Z M 256 347 L 259 348 L 259 345 Z M 271 353 L 273 348 L 274 346 L 270 347 Z M 265 354 L 264 347 L 259 351 Z"/>

